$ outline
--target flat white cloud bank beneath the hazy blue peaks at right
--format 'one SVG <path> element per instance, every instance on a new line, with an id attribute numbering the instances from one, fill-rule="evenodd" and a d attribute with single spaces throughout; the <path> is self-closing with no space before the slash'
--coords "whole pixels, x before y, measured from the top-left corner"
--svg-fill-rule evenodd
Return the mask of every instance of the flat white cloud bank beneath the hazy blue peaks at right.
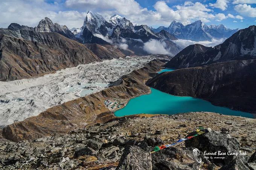
<path id="1" fill-rule="evenodd" d="M 201 44 L 204 45 L 206 47 L 214 47 L 216 45 L 221 44 L 222 42 L 224 42 L 225 39 L 212 39 L 212 41 L 191 41 L 191 40 L 185 40 L 185 39 L 178 39 L 178 40 L 174 40 L 174 42 L 179 45 L 181 48 L 185 48 L 189 45 L 192 44 Z"/>

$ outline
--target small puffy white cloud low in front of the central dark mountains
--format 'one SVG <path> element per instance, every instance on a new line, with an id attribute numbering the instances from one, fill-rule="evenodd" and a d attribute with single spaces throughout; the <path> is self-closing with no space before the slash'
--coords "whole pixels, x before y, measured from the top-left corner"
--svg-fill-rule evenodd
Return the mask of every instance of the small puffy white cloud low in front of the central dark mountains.
<path id="1" fill-rule="evenodd" d="M 172 55 L 168 49 L 166 49 L 166 43 L 164 41 L 158 41 L 155 39 L 150 39 L 148 42 L 144 43 L 143 50 L 149 54 L 165 54 Z"/>

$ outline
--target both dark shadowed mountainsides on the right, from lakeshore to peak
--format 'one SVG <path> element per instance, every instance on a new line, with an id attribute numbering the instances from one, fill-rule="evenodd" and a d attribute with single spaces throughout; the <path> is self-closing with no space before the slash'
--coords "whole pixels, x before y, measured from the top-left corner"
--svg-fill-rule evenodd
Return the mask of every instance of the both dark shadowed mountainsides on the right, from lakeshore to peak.
<path id="1" fill-rule="evenodd" d="M 157 75 L 149 86 L 256 113 L 256 26 L 239 30 L 213 48 L 189 45 L 166 66 L 177 70 Z"/>

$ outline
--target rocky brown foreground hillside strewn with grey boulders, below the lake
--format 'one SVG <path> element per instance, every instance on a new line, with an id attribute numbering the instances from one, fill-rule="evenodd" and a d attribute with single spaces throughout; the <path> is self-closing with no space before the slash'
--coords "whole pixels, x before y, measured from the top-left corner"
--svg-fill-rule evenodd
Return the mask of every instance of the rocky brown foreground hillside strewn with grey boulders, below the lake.
<path id="1" fill-rule="evenodd" d="M 212 132 L 155 153 L 154 146 L 184 138 L 198 126 Z M 256 168 L 255 119 L 197 112 L 114 118 L 68 134 L 14 143 L 0 141 L 2 169 L 249 170 Z M 193 150 L 201 152 L 195 156 Z M 207 159 L 202 152 L 246 153 Z M 254 154 L 253 154 L 254 153 Z M 198 159 L 201 158 L 201 161 Z M 249 159 L 250 158 L 250 159 Z"/>

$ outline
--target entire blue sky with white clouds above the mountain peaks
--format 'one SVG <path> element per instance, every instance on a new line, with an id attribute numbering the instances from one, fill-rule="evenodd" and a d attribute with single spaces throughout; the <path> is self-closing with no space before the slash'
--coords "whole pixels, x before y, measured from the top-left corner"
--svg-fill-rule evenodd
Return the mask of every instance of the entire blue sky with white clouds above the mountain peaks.
<path id="1" fill-rule="evenodd" d="M 245 28 L 256 24 L 256 0 L 1 0 L 0 27 L 36 26 L 44 17 L 69 28 L 81 27 L 87 11 L 109 20 L 113 14 L 134 24 L 168 26 L 172 20 Z"/>

